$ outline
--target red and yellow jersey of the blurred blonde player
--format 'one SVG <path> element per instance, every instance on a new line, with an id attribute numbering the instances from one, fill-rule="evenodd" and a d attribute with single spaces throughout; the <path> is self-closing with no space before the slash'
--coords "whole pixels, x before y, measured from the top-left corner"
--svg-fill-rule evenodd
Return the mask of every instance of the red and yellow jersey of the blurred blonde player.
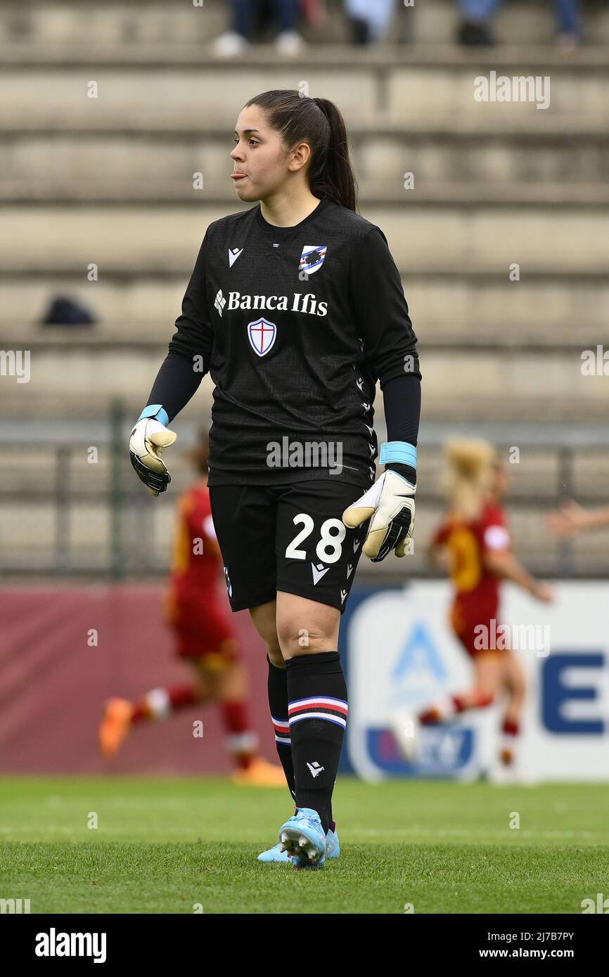
<path id="1" fill-rule="evenodd" d="M 446 547 L 459 617 L 483 620 L 496 616 L 500 580 L 487 569 L 485 556 L 510 548 L 501 507 L 489 502 L 480 517 L 470 522 L 449 513 L 435 533 L 433 544 Z"/>

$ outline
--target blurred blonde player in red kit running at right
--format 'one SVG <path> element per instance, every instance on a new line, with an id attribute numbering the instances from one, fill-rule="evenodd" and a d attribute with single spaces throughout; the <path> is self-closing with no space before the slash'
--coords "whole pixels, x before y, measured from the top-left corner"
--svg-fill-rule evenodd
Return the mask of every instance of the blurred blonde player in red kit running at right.
<path id="1" fill-rule="evenodd" d="M 490 705 L 505 693 L 499 758 L 510 767 L 516 759 L 526 680 L 498 619 L 500 581 L 511 580 L 544 603 L 551 602 L 552 591 L 527 573 L 512 553 L 501 505 L 507 473 L 495 448 L 486 442 L 459 440 L 449 442 L 445 450 L 449 511 L 432 537 L 428 556 L 447 570 L 453 583 L 451 626 L 471 658 L 474 681 L 465 692 L 446 695 L 422 711 L 400 711 L 392 717 L 392 730 L 404 755 L 413 760 L 419 724 L 446 722 L 465 709 Z"/>

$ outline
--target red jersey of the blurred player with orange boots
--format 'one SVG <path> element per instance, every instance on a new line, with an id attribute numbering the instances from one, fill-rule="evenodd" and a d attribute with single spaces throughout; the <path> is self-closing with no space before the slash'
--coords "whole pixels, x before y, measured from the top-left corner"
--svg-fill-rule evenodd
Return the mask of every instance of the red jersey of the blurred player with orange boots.
<path id="1" fill-rule="evenodd" d="M 216 588 L 222 557 L 211 518 L 209 490 L 199 482 L 178 501 L 178 526 L 173 546 L 171 583 L 178 589 Z"/>

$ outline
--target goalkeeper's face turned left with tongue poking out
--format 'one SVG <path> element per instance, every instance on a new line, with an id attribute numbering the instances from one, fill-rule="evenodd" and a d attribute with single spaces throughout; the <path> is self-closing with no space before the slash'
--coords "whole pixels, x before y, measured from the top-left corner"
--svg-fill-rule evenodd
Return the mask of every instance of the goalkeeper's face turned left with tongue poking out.
<path id="1" fill-rule="evenodd" d="M 243 108 L 231 152 L 233 172 L 245 174 L 240 179 L 232 177 L 239 200 L 264 200 L 281 191 L 285 180 L 302 169 L 309 155 L 306 143 L 286 152 L 280 133 L 270 128 L 258 106 Z"/>

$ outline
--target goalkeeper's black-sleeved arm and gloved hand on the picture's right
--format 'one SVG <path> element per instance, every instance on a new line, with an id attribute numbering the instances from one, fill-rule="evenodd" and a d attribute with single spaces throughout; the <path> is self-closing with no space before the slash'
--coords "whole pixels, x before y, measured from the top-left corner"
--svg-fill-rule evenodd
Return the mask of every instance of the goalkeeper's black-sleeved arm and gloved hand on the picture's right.
<path id="1" fill-rule="evenodd" d="M 342 518 L 350 528 L 370 519 L 363 552 L 378 563 L 391 550 L 396 556 L 410 552 L 421 380 L 400 273 L 379 228 L 371 228 L 354 248 L 349 288 L 367 365 L 383 392 L 387 441 L 378 459 L 384 472 Z"/>

